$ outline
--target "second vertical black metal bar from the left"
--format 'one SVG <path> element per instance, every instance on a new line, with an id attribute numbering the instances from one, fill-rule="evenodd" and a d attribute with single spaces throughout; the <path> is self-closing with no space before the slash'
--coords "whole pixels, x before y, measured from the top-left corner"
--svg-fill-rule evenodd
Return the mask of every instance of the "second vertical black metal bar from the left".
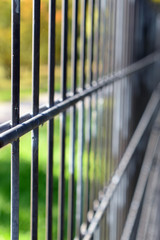
<path id="1" fill-rule="evenodd" d="M 32 111 L 39 112 L 40 0 L 33 1 Z M 31 239 L 38 237 L 38 128 L 32 131 Z"/>

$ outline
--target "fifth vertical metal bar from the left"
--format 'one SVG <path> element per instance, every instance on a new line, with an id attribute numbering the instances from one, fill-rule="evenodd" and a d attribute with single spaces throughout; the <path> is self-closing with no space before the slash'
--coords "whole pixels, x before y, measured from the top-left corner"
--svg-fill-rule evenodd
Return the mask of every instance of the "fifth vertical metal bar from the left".
<path id="1" fill-rule="evenodd" d="M 76 93 L 77 88 L 77 23 L 78 23 L 78 0 L 73 1 L 72 7 L 72 92 Z M 68 208 L 68 239 L 74 237 L 74 207 L 75 207 L 75 140 L 76 140 L 76 107 L 71 108 L 71 156 L 69 167 L 69 208 Z"/>

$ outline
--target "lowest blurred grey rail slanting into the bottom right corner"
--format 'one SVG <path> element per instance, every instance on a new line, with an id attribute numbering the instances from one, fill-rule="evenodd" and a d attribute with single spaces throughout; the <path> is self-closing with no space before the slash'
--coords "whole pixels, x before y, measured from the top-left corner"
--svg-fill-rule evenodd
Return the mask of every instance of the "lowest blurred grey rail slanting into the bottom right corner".
<path id="1" fill-rule="evenodd" d="M 160 116 L 160 113 L 158 113 L 158 117 L 156 118 L 156 121 L 153 125 L 153 129 L 151 132 L 151 136 L 150 136 L 150 140 L 147 146 L 147 150 L 146 150 L 146 154 L 144 157 L 144 162 L 143 162 L 143 166 L 141 169 L 141 173 L 138 179 L 138 183 L 137 183 L 137 187 L 134 193 L 134 197 L 131 203 L 131 207 L 128 213 L 128 217 L 127 217 L 127 221 L 123 230 L 123 234 L 121 237 L 121 240 L 125 240 L 125 239 L 133 239 L 133 234 L 136 235 L 136 231 L 133 231 L 133 229 L 135 229 L 135 226 L 137 224 L 137 221 L 139 221 L 139 213 L 141 211 L 143 211 L 143 209 L 141 210 L 141 208 L 145 207 L 145 199 L 146 194 L 147 193 L 147 189 L 148 189 L 148 184 L 151 184 L 152 189 L 149 190 L 149 195 L 151 195 L 154 198 L 154 187 L 155 187 L 155 183 L 153 183 L 151 180 L 151 178 L 153 178 L 153 166 L 155 165 L 155 155 L 159 149 L 159 145 L 160 145 L 160 133 L 159 131 L 157 131 L 157 129 L 155 128 L 156 124 L 158 123 L 158 118 Z M 152 179 L 153 180 L 153 179 Z M 151 187 L 150 186 L 150 187 Z M 152 194 L 151 194 L 152 192 Z M 147 201 L 147 200 L 146 200 Z M 142 206 L 143 205 L 143 206 Z M 150 207 L 148 206 L 146 215 L 145 215 L 145 222 L 147 222 L 148 220 L 148 216 L 150 214 Z M 143 216 L 143 213 L 141 214 L 141 217 Z M 140 218 L 141 219 L 141 218 Z M 140 220 L 141 221 L 141 220 Z M 143 225 L 143 226 L 142 226 Z M 140 234 L 141 237 L 138 239 L 146 239 L 145 233 L 146 233 L 146 228 L 147 226 L 145 226 L 145 224 L 143 224 L 143 222 L 140 224 L 140 222 L 138 223 L 138 229 L 140 230 Z M 142 230 L 143 229 L 143 230 Z M 142 230 L 142 231 L 141 231 Z"/>

